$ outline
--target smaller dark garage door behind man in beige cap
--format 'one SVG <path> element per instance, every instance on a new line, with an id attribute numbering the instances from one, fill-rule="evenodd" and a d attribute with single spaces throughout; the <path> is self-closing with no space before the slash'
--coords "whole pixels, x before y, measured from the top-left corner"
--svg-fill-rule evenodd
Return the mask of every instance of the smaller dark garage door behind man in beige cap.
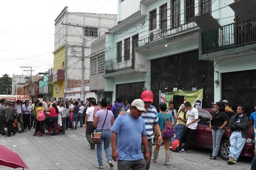
<path id="1" fill-rule="evenodd" d="M 134 99 L 140 99 L 144 87 L 145 82 L 116 85 L 116 97 L 121 98 L 122 102 L 129 100 L 131 103 Z"/>

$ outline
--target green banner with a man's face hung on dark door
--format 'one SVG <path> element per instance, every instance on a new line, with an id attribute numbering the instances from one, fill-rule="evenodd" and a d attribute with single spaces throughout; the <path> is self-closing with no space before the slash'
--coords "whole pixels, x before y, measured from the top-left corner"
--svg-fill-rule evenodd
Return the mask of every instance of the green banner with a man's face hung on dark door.
<path id="1" fill-rule="evenodd" d="M 162 91 L 159 91 L 159 101 L 169 104 L 169 102 L 173 101 L 173 96 L 184 96 L 184 102 L 190 102 L 192 106 L 195 108 L 201 108 L 202 107 L 202 101 L 203 101 L 203 91 L 204 89 L 198 89 L 195 91 L 182 91 L 177 90 L 170 93 L 163 93 Z M 177 106 L 179 107 L 179 106 Z"/>

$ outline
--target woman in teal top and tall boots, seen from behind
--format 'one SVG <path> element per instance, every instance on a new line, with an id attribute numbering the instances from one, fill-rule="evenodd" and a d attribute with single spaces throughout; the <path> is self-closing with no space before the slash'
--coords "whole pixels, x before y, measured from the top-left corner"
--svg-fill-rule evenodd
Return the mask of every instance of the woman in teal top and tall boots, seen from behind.
<path id="1" fill-rule="evenodd" d="M 160 113 L 157 113 L 157 117 L 158 117 L 158 124 L 160 126 L 160 130 L 161 132 L 163 131 L 163 129 L 165 128 L 165 122 L 166 120 L 171 120 L 172 121 L 172 114 L 169 114 L 167 113 L 166 109 L 167 109 L 167 105 L 166 103 L 160 103 Z M 172 125 L 172 123 L 170 123 Z M 158 137 L 159 136 L 156 136 L 156 141 L 158 141 Z M 171 141 L 171 137 L 169 138 L 166 138 L 164 137 L 163 138 L 163 143 L 164 143 L 164 148 L 166 150 L 166 156 L 165 156 L 165 164 L 166 166 L 169 166 L 169 161 L 170 161 L 170 154 L 171 154 L 171 151 L 170 151 L 170 148 L 169 148 L 169 145 L 170 145 L 170 141 Z M 159 149 L 160 149 L 160 144 L 156 144 L 155 146 L 155 149 L 154 149 L 154 152 L 153 152 L 153 156 L 152 156 L 152 161 L 153 162 L 157 162 L 157 157 L 158 157 L 158 153 L 159 153 Z"/>

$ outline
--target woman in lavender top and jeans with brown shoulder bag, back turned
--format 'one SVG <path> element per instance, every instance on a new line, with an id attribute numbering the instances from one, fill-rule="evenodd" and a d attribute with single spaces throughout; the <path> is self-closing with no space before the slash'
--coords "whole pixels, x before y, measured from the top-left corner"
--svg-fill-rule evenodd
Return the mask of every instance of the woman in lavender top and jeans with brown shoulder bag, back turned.
<path id="1" fill-rule="evenodd" d="M 96 127 L 96 133 L 101 132 L 100 142 L 96 143 L 97 159 L 98 159 L 97 168 L 99 169 L 103 169 L 103 162 L 102 162 L 102 142 L 103 141 L 104 141 L 104 150 L 108 159 L 108 164 L 110 167 L 113 167 L 109 145 L 111 142 L 110 129 L 114 124 L 114 115 L 112 111 L 107 110 L 107 105 L 108 105 L 107 100 L 102 99 L 102 101 L 100 102 L 100 107 L 102 110 L 96 112 L 95 118 L 93 121 L 93 126 Z"/>

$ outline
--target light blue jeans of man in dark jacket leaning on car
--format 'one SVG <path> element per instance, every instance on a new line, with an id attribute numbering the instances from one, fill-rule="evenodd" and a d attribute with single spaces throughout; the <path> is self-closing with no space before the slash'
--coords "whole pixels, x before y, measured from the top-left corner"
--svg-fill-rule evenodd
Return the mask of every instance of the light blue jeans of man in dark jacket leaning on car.
<path id="1" fill-rule="evenodd" d="M 230 136 L 230 154 L 228 157 L 233 157 L 237 161 L 245 142 L 246 139 L 242 138 L 241 132 L 233 132 Z"/>

